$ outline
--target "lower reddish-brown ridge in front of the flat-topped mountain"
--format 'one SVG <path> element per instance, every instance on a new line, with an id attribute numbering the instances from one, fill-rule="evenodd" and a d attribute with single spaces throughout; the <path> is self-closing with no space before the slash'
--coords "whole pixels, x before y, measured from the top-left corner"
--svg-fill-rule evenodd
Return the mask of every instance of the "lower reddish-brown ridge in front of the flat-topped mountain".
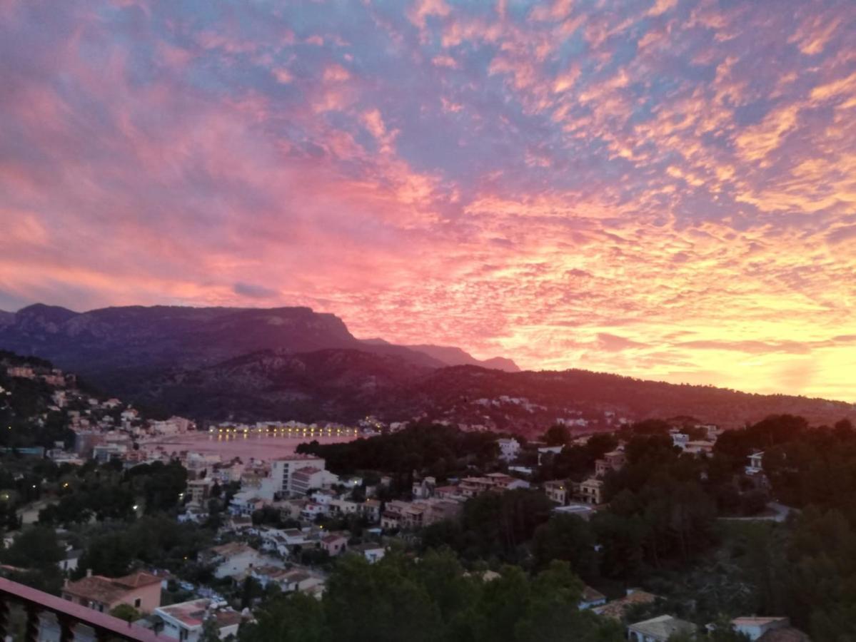
<path id="1" fill-rule="evenodd" d="M 677 386 L 585 370 L 507 373 L 475 366 L 428 368 L 362 350 L 289 354 L 264 350 L 169 374 L 140 401 L 211 420 L 383 421 L 425 419 L 532 436 L 558 419 L 580 431 L 614 428 L 623 418 L 693 417 L 740 427 L 773 414 L 814 424 L 849 417 L 852 404 Z"/>

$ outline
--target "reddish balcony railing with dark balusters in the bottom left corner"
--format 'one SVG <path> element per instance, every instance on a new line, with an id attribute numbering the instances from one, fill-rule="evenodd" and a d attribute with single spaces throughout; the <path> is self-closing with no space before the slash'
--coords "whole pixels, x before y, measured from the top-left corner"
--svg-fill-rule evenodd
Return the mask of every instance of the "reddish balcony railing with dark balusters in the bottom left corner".
<path id="1" fill-rule="evenodd" d="M 57 598 L 55 595 L 37 591 L 18 582 L 0 578 L 0 642 L 12 635 L 11 610 L 17 604 L 21 605 L 27 614 L 24 639 L 27 642 L 39 642 L 43 639 L 54 639 L 56 636 L 45 635 L 42 624 L 44 615 L 56 617 L 59 642 L 72 642 L 75 639 L 94 638 L 98 642 L 107 640 L 136 640 L 138 642 L 164 642 L 165 638 L 158 636 L 147 628 L 137 627 L 130 622 L 120 620 L 112 615 L 87 609 L 80 604 Z M 75 627 L 83 625 L 92 633 L 79 633 L 75 636 Z"/>

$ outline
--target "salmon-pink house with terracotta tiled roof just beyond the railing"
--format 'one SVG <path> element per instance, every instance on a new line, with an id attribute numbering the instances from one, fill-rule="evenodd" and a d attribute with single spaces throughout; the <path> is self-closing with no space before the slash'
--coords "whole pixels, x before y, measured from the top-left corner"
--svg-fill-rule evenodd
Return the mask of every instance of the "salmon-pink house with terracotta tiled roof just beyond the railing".
<path id="1" fill-rule="evenodd" d="M 87 572 L 76 582 L 62 587 L 62 599 L 89 609 L 109 613 L 119 604 L 130 604 L 143 613 L 160 606 L 161 578 L 139 571 L 123 577 L 104 577 Z"/>

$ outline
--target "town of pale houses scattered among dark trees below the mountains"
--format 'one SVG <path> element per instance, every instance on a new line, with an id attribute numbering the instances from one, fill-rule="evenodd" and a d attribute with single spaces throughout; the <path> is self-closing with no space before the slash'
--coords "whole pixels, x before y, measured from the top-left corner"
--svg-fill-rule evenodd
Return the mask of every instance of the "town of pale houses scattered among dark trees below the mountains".
<path id="1" fill-rule="evenodd" d="M 805 429 L 799 418 L 728 432 L 688 417 L 598 433 L 556 423 L 540 439 L 376 418 L 199 431 L 84 392 L 50 364 L 9 354 L 3 362 L 0 574 L 164 638 L 263 639 L 269 604 L 297 595 L 324 602 L 354 557 L 419 568 L 443 554 L 484 586 L 510 568 L 537 579 L 569 563 L 583 581 L 572 592 L 576 610 L 590 618 L 574 626 L 607 636 L 807 639 L 793 612 L 740 610 L 740 595 L 728 594 L 741 586 L 734 571 L 712 601 L 709 587 L 690 597 L 662 577 L 702 563 L 723 537 L 715 528 L 730 528 L 724 537 L 740 549 L 760 536 L 752 529 L 796 519 L 788 506 L 800 498 L 774 500 L 788 499 L 794 484 L 782 449 Z M 27 439 L 15 439 L 22 432 Z M 856 439 L 847 422 L 834 432 Z M 187 435 L 204 439 L 191 442 L 198 450 L 171 450 L 169 439 Z M 299 445 L 287 454 L 266 446 L 277 435 Z M 223 439 L 265 447 L 247 458 L 228 442 L 204 447 Z M 752 447 L 770 440 L 766 453 Z M 776 604 L 756 598 L 765 610 Z M 27 626 L 19 615 L 12 626 Z M 38 626 L 40 639 L 64 634 L 50 612 Z"/>

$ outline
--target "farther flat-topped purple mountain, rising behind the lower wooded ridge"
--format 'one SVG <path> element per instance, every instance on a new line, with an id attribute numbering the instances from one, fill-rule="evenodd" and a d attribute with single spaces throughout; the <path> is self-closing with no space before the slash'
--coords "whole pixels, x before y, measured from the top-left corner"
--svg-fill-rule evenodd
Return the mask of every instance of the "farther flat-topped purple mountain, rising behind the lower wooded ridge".
<path id="1" fill-rule="evenodd" d="M 169 371 L 204 368 L 259 350 L 365 350 L 425 368 L 447 365 L 406 346 L 366 344 L 336 315 L 309 308 L 130 306 L 78 313 L 37 303 L 0 314 L 0 347 L 51 359 L 129 398 Z"/>

